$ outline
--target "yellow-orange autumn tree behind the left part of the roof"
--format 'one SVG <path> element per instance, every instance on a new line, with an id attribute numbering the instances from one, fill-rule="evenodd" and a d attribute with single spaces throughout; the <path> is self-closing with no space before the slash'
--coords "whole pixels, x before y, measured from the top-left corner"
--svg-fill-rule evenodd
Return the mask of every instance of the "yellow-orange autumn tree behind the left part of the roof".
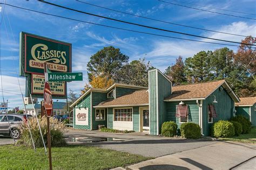
<path id="1" fill-rule="evenodd" d="M 110 87 L 114 81 L 112 79 L 107 79 L 105 76 L 92 76 L 92 80 L 90 82 L 93 88 L 106 89 Z"/>

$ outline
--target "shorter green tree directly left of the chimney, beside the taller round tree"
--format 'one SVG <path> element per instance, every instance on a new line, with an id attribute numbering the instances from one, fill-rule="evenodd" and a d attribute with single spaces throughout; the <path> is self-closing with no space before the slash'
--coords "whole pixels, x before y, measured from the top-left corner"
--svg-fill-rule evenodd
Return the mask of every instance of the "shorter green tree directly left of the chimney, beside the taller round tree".
<path id="1" fill-rule="evenodd" d="M 133 60 L 118 70 L 115 82 L 147 87 L 149 85 L 148 72 L 151 67 L 150 61 L 145 58 Z"/>

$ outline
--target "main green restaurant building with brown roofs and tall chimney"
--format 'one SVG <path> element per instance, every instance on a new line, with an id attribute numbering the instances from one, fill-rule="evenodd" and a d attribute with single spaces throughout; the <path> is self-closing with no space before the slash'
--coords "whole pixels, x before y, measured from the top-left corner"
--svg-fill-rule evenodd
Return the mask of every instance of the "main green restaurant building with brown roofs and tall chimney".
<path id="1" fill-rule="evenodd" d="M 158 69 L 149 72 L 149 87 L 115 83 L 89 89 L 74 103 L 73 128 L 147 131 L 160 134 L 161 124 L 194 122 L 204 136 L 212 123 L 234 116 L 239 98 L 225 80 L 172 86 Z"/>

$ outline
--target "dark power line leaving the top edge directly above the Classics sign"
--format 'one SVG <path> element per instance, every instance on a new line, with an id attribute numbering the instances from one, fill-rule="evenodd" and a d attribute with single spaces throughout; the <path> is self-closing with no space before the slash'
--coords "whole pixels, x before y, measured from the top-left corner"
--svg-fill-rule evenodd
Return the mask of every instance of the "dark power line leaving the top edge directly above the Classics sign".
<path id="1" fill-rule="evenodd" d="M 126 21 L 124 21 L 124 20 L 114 19 L 114 18 L 110 18 L 110 17 L 104 17 L 104 16 L 96 15 L 96 14 L 94 14 L 94 13 L 79 11 L 79 10 L 76 10 L 76 9 L 68 8 L 68 7 L 66 7 L 66 6 L 62 6 L 62 5 L 58 5 L 58 4 L 53 4 L 53 3 L 46 2 L 46 1 L 43 1 L 43 0 L 41 0 L 40 2 L 49 4 L 49 5 L 53 5 L 53 6 L 57 6 L 57 7 L 59 7 L 59 8 L 68 9 L 68 10 L 76 11 L 76 12 L 79 12 L 79 13 L 84 13 L 84 14 L 86 14 L 86 15 L 91 15 L 91 16 L 95 16 L 95 17 L 99 17 L 99 18 L 105 18 L 105 19 L 109 19 L 109 20 L 114 20 L 114 21 L 117 21 L 117 22 L 120 22 L 120 23 L 126 23 L 126 24 L 131 24 L 131 25 L 146 27 L 146 28 L 148 28 L 148 29 L 159 30 L 159 31 L 165 31 L 165 32 L 172 32 L 172 33 L 177 33 L 177 34 L 183 34 L 183 35 L 186 35 L 186 36 L 192 36 L 192 37 L 198 37 L 198 38 L 205 38 L 205 39 L 211 39 L 211 40 L 217 40 L 217 41 L 231 42 L 231 43 L 236 43 L 236 44 L 251 45 L 251 44 L 245 44 L 245 43 L 241 43 L 241 42 L 235 42 L 235 41 L 229 41 L 229 40 L 222 40 L 222 39 L 216 39 L 216 38 L 209 38 L 209 37 L 204 37 L 204 36 L 197 36 L 197 35 L 194 35 L 194 34 L 188 34 L 188 33 L 184 33 L 184 32 L 165 30 L 165 29 L 160 29 L 160 28 L 157 28 L 157 27 L 152 27 L 152 26 L 147 26 L 147 25 L 142 25 L 142 24 L 137 24 L 137 23 L 126 22 Z M 255 46 L 255 45 L 253 45 L 253 46 Z"/>

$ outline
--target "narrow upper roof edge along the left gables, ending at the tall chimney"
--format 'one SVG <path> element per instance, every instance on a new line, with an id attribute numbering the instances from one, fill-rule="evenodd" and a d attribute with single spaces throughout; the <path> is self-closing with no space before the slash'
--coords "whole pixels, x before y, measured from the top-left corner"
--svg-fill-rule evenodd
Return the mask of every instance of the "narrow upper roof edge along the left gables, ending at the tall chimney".
<path id="1" fill-rule="evenodd" d="M 91 91 L 107 93 L 114 87 L 124 87 L 124 88 L 133 88 L 133 89 L 148 89 L 147 87 L 143 87 L 143 86 L 135 86 L 135 85 L 130 85 L 130 84 L 122 84 L 122 83 L 114 83 L 112 86 L 110 86 L 107 89 L 90 88 L 87 91 L 85 91 L 85 93 L 82 94 L 80 97 L 78 97 L 77 100 L 70 105 L 70 108 L 74 107 L 80 100 L 82 100 Z"/>

